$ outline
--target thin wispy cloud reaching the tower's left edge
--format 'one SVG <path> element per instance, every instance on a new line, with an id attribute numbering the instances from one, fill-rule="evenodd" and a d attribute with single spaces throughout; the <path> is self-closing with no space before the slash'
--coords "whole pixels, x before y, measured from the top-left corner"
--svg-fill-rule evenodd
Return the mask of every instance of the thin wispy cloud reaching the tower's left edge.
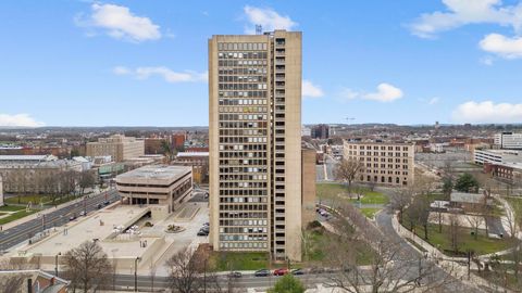
<path id="1" fill-rule="evenodd" d="M 182 73 L 174 72 L 165 66 L 136 67 L 134 69 L 125 66 L 116 66 L 112 69 L 116 75 L 130 75 L 137 79 L 148 79 L 151 76 L 160 76 L 167 82 L 190 82 L 207 81 L 208 73 L 196 73 L 186 71 Z"/>

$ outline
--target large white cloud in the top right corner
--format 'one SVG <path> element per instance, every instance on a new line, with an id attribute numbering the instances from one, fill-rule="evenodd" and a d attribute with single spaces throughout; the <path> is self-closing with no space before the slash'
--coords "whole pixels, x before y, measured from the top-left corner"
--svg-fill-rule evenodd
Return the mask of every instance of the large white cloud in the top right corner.
<path id="1" fill-rule="evenodd" d="M 469 24 L 498 24 L 522 29 L 522 3 L 502 5 L 501 0 L 443 0 L 446 11 L 424 13 L 409 25 L 411 33 L 434 38 L 438 33 Z"/>

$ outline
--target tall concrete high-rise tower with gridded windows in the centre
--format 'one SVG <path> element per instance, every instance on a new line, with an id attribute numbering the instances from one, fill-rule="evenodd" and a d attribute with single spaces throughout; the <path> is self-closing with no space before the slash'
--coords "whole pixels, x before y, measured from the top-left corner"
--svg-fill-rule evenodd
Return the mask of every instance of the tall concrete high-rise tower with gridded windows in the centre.
<path id="1" fill-rule="evenodd" d="M 209 39 L 210 242 L 301 258 L 301 33 Z"/>

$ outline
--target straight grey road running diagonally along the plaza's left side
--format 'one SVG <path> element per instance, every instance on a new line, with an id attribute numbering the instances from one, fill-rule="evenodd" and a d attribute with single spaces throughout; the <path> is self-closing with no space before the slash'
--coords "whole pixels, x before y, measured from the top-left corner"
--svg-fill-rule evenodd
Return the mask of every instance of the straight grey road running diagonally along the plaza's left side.
<path id="1" fill-rule="evenodd" d="M 86 199 L 85 201 L 58 208 L 57 211 L 40 216 L 39 218 L 5 229 L 0 232 L 0 251 L 5 252 L 12 246 L 27 241 L 46 229 L 62 226 L 70 221 L 71 216 L 79 216 L 79 213 L 84 209 L 89 213 L 97 209 L 98 204 L 103 204 L 105 201 L 112 203 L 119 199 L 120 195 L 115 190 L 103 192 Z"/>

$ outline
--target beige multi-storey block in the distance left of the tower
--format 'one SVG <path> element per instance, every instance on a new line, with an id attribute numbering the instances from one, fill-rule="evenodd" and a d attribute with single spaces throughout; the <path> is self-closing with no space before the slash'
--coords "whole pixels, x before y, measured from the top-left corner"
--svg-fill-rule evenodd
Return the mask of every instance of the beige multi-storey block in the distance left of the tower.
<path id="1" fill-rule="evenodd" d="M 87 156 L 110 155 L 114 162 L 123 162 L 144 154 L 144 140 L 137 140 L 136 138 L 124 137 L 122 135 L 100 138 L 98 139 L 98 142 L 87 143 Z"/>

